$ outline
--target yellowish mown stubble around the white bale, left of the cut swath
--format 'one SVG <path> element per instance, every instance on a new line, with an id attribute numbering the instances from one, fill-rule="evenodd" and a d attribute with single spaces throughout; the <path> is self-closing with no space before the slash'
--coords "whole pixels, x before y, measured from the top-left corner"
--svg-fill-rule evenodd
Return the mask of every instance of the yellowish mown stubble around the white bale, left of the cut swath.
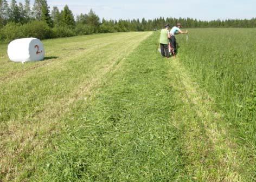
<path id="1" fill-rule="evenodd" d="M 24 65 L 7 62 L 4 55 L 1 71 L 11 74 L 0 80 L 1 179 L 16 181 L 23 170 L 33 170 L 44 147 L 65 127 L 59 119 L 69 111 L 69 105 L 93 95 L 105 74 L 116 69 L 150 34 L 47 40 L 44 46 L 50 59 Z"/>

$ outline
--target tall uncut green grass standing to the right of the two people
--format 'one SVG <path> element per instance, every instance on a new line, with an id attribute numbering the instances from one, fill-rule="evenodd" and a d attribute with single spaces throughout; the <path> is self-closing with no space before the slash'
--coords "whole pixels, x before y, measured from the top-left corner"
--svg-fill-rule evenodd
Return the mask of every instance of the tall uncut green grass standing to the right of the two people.
<path id="1" fill-rule="evenodd" d="M 256 147 L 256 29 L 191 29 L 180 60 L 214 98 L 241 142 Z M 235 133 L 237 134 L 237 133 Z"/>

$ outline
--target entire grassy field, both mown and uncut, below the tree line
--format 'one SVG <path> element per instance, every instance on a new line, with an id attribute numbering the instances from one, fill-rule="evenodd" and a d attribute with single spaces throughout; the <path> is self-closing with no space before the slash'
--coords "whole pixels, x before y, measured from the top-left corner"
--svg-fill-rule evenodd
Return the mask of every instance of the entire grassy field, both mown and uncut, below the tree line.
<path id="1" fill-rule="evenodd" d="M 256 181 L 255 29 L 191 29 L 0 45 L 0 181 Z"/>

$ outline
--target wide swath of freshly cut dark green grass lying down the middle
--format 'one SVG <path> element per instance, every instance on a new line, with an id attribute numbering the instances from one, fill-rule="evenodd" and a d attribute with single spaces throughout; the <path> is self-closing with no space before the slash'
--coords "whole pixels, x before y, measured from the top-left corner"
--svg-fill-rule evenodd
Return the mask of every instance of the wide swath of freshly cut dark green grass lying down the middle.
<path id="1" fill-rule="evenodd" d="M 155 52 L 158 33 L 107 74 L 95 97 L 63 119 L 29 181 L 188 181 L 172 124 L 175 98 L 168 60 Z"/>

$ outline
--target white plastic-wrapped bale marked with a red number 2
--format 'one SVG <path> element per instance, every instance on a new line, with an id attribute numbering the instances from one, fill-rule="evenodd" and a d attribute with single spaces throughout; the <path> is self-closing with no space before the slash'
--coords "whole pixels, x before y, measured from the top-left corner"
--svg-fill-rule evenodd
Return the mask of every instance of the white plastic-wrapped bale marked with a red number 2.
<path id="1" fill-rule="evenodd" d="M 8 56 L 13 62 L 31 62 L 43 60 L 43 43 L 37 38 L 16 39 L 8 45 Z"/>

